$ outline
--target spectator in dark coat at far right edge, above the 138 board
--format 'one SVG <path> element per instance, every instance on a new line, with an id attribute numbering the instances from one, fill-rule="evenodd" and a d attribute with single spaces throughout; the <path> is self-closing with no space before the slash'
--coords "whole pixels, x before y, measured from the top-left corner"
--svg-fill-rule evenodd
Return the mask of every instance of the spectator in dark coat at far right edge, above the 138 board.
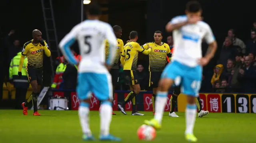
<path id="1" fill-rule="evenodd" d="M 250 63 L 250 57 L 244 59 L 245 65 L 239 70 L 237 80 L 241 85 L 241 92 L 256 92 L 256 71 Z"/>

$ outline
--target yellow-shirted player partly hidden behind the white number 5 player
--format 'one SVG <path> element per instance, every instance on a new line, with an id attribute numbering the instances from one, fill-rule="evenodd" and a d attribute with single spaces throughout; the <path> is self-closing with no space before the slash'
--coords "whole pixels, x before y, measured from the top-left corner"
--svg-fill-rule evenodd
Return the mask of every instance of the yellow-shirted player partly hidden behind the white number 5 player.
<path id="1" fill-rule="evenodd" d="M 118 25 L 115 25 L 113 26 L 113 30 L 114 30 L 114 34 L 117 37 L 116 39 L 117 46 L 116 46 L 116 55 L 114 57 L 113 65 L 111 66 L 111 69 L 109 72 L 112 76 L 113 99 L 115 99 L 115 86 L 118 83 L 120 57 L 121 57 L 122 51 L 124 51 L 124 42 L 122 39 L 120 39 L 122 36 L 122 28 Z M 105 61 L 108 60 L 109 53 L 110 53 L 109 44 L 108 44 L 108 41 L 106 40 Z M 112 112 L 112 115 L 116 115 L 116 114 Z"/>

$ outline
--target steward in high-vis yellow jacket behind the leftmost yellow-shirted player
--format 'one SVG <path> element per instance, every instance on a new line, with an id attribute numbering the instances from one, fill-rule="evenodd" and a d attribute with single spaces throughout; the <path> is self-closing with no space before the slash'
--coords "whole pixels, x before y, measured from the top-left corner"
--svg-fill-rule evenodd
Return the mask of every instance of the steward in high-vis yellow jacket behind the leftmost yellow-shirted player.
<path id="1" fill-rule="evenodd" d="M 24 63 L 22 65 L 22 76 L 19 78 L 18 71 L 20 65 L 20 56 L 21 52 L 17 53 L 17 55 L 12 59 L 9 68 L 9 79 L 10 83 L 14 85 L 16 89 L 15 92 L 15 108 L 22 109 L 20 106 L 24 100 L 26 100 L 26 93 L 29 87 L 28 82 L 28 74 L 26 71 L 26 63 L 28 61 L 27 57 L 24 59 Z"/>

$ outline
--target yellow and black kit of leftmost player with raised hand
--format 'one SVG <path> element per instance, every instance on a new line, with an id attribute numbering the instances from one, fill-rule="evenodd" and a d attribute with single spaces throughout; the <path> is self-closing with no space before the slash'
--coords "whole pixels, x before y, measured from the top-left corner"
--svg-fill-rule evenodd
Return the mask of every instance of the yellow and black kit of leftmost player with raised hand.
<path id="1" fill-rule="evenodd" d="M 51 52 L 48 49 L 46 41 L 44 41 L 45 46 L 40 43 L 34 44 L 33 40 L 28 41 L 24 44 L 22 55 L 20 58 L 19 71 L 22 69 L 25 56 L 28 58 L 28 63 L 26 69 L 28 72 L 28 79 L 30 81 L 37 80 L 38 85 L 42 85 L 42 69 L 43 69 L 43 59 L 44 53 L 47 57 L 50 57 Z M 43 53 L 44 52 L 44 53 Z"/>

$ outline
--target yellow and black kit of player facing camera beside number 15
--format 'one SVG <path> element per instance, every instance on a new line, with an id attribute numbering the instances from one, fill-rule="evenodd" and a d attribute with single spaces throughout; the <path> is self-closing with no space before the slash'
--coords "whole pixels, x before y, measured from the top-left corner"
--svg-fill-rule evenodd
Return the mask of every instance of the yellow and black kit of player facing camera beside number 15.
<path id="1" fill-rule="evenodd" d="M 152 47 L 152 51 L 149 53 L 149 86 L 156 88 L 166 65 L 166 56 L 171 59 L 172 53 L 166 43 L 162 42 L 161 45 L 155 42 L 146 43 L 143 45 L 144 49 L 148 49 L 148 45 Z"/>

